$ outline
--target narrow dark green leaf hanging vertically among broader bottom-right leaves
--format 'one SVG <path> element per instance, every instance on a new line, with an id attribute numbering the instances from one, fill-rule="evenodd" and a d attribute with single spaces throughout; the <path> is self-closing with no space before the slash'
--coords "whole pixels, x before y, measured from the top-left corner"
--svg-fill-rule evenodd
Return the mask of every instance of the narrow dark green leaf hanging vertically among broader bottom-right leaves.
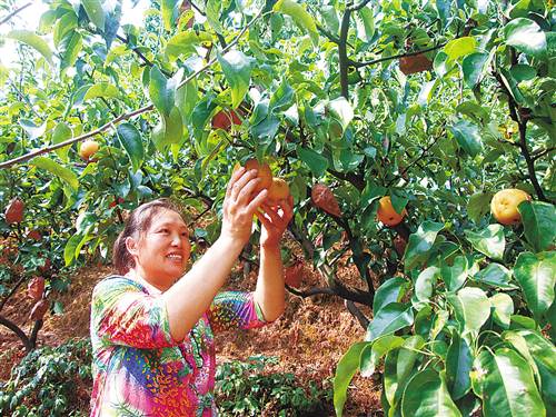
<path id="1" fill-rule="evenodd" d="M 446 355 L 446 380 L 451 398 L 459 399 L 471 389 L 471 349 L 464 338 L 455 334 Z"/>

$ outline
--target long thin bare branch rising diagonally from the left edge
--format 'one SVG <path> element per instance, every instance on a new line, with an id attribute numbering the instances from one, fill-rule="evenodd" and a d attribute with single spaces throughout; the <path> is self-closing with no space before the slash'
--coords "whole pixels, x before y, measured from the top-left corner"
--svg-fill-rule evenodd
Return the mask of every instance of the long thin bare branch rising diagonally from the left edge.
<path id="1" fill-rule="evenodd" d="M 230 42 L 228 44 L 228 47 L 226 47 L 225 49 L 222 49 L 221 53 L 227 52 L 229 49 L 231 49 L 234 46 L 236 46 L 236 43 L 238 43 L 239 39 L 247 32 L 247 30 L 251 27 L 251 24 L 255 23 L 261 16 L 262 16 L 262 10 L 259 12 L 259 14 L 257 14 L 239 32 L 239 34 L 236 37 L 236 39 L 234 39 L 234 41 Z M 189 81 L 191 81 L 192 79 L 195 79 L 199 73 L 201 73 L 201 72 L 206 71 L 208 68 L 210 68 L 216 61 L 217 61 L 217 58 L 212 58 L 209 62 L 207 62 L 206 66 L 203 66 L 202 68 L 198 69 L 197 71 L 195 71 L 193 73 L 191 73 L 189 77 L 187 77 L 183 81 L 181 81 L 177 88 L 179 89 L 179 88 L 183 87 L 185 85 L 187 85 Z M 88 133 L 78 136 L 77 138 L 71 138 L 71 139 L 68 139 L 68 140 L 66 140 L 63 142 L 60 142 L 60 143 L 57 143 L 57 145 L 52 145 L 52 146 L 49 146 L 49 147 L 46 147 L 46 148 L 42 148 L 42 149 L 38 149 L 36 151 L 22 155 L 22 156 L 20 156 L 18 158 L 13 158 L 13 159 L 10 159 L 10 160 L 8 160 L 6 162 L 1 162 L 0 163 L 0 169 L 2 169 L 2 168 L 9 168 L 9 167 L 11 167 L 14 163 L 27 161 L 29 159 L 32 159 L 32 158 L 39 156 L 39 155 L 48 153 L 48 152 L 51 152 L 51 151 L 53 151 L 56 149 L 60 149 L 60 148 L 67 147 L 69 145 L 73 145 L 76 142 L 79 142 L 81 140 L 95 137 L 97 135 L 102 133 L 103 131 L 108 130 L 111 127 L 116 127 L 116 125 L 120 123 L 123 120 L 131 119 L 131 118 L 133 118 L 136 116 L 139 116 L 139 115 L 142 115 L 145 112 L 151 111 L 152 109 L 155 109 L 153 105 L 145 106 L 145 107 L 138 109 L 138 110 L 135 110 L 132 112 L 122 115 L 122 116 L 120 116 L 120 117 L 118 117 L 118 118 L 116 118 L 116 119 L 107 122 L 107 123 L 105 123 L 103 126 L 101 126 L 100 128 L 98 128 L 96 130 L 92 130 L 92 131 L 90 131 Z"/>

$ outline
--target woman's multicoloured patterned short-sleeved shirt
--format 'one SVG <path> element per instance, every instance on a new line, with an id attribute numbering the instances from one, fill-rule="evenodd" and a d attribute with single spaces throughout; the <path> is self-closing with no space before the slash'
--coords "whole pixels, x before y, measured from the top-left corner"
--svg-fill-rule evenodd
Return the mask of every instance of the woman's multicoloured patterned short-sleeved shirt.
<path id="1" fill-rule="evenodd" d="M 220 292 L 176 342 L 153 292 L 122 276 L 95 287 L 91 416 L 216 416 L 214 331 L 266 324 L 252 292 Z"/>

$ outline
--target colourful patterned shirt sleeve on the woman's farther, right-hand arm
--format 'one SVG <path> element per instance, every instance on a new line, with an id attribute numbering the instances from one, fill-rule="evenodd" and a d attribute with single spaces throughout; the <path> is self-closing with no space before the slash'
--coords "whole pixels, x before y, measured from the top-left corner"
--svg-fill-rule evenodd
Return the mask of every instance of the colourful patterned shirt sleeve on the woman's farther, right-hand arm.
<path id="1" fill-rule="evenodd" d="M 224 291 L 217 294 L 208 311 L 215 332 L 231 328 L 252 329 L 268 324 L 255 302 L 252 292 Z"/>

